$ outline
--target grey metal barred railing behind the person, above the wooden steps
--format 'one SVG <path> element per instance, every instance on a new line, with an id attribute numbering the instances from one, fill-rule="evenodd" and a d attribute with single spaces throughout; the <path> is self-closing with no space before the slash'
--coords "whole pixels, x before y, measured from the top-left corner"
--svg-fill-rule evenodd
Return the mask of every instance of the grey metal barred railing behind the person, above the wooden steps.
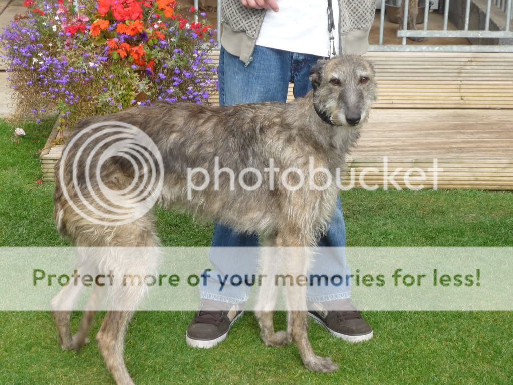
<path id="1" fill-rule="evenodd" d="M 221 36 L 221 1 L 218 0 L 218 40 Z M 511 20 L 513 18 L 512 6 L 513 0 L 487 0 L 486 19 L 484 30 L 470 30 L 470 10 L 472 0 L 466 0 L 465 5 L 465 29 L 464 30 L 449 30 L 449 5 L 450 0 L 444 2 L 444 26 L 443 30 L 428 30 L 429 23 L 429 0 L 426 0 L 424 7 L 424 28 L 420 30 L 408 30 L 408 8 L 409 0 L 405 1 L 403 28 L 397 31 L 397 35 L 402 37 L 402 44 L 384 44 L 384 28 L 385 28 L 385 4 L 386 0 L 381 1 L 380 11 L 380 35 L 379 44 L 370 45 L 369 51 L 410 51 L 410 52 L 513 52 L 513 45 L 511 44 L 459 44 L 459 45 L 408 45 L 408 37 L 467 37 L 467 38 L 511 38 L 513 39 L 513 32 L 511 29 Z M 415 0 L 417 1 L 417 0 Z M 490 16 L 492 10 L 492 3 L 505 13 L 505 28 L 500 31 L 490 31 Z M 194 7 L 199 8 L 199 0 L 194 0 Z"/>

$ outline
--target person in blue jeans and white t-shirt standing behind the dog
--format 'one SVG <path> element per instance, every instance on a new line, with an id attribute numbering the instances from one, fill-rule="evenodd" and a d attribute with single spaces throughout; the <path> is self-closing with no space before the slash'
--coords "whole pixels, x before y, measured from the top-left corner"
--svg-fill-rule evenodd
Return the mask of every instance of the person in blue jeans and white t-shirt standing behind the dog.
<path id="1" fill-rule="evenodd" d="M 335 49 L 342 54 L 363 54 L 374 20 L 375 0 L 333 0 Z M 294 83 L 294 98 L 310 89 L 310 68 L 327 56 L 328 0 L 223 0 L 223 33 L 219 64 L 221 105 L 285 102 L 289 82 Z M 340 11 L 339 11 L 340 10 Z M 339 16 L 337 18 L 337 15 Z M 337 23 L 338 21 L 338 23 Z M 323 247 L 337 247 L 315 259 L 310 275 L 340 275 L 350 271 L 340 247 L 346 233 L 340 197 Z M 226 339 L 231 325 L 242 315 L 249 288 L 224 284 L 218 274 L 254 274 L 257 271 L 256 234 L 239 234 L 215 223 L 210 261 L 214 270 L 201 287 L 202 307 L 189 324 L 186 340 L 196 348 L 211 348 Z M 244 257 L 216 252 L 215 247 L 252 246 Z M 343 250 L 343 249 L 342 249 Z M 309 316 L 332 335 L 350 342 L 372 338 L 372 329 L 350 299 L 348 285 L 307 287 Z"/>

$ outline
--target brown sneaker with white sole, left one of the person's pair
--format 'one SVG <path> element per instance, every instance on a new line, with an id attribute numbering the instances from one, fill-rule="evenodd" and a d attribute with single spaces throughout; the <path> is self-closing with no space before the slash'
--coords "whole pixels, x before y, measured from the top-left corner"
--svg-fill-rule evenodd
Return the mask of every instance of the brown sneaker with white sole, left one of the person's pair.
<path id="1" fill-rule="evenodd" d="M 210 349 L 223 342 L 231 326 L 244 313 L 241 305 L 204 300 L 185 334 L 193 348 Z"/>

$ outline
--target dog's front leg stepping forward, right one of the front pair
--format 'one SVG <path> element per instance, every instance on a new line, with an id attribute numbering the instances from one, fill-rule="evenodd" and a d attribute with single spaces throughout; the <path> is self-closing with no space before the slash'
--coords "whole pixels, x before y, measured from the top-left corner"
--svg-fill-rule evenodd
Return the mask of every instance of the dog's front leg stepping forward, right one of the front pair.
<path id="1" fill-rule="evenodd" d="M 306 247 L 293 248 L 285 258 L 285 272 L 295 277 L 307 274 L 309 252 Z M 306 285 L 286 285 L 285 296 L 287 300 L 288 331 L 292 340 L 298 345 L 299 353 L 305 368 L 330 373 L 338 369 L 329 357 L 315 355 L 308 340 L 307 313 L 306 313 Z"/>

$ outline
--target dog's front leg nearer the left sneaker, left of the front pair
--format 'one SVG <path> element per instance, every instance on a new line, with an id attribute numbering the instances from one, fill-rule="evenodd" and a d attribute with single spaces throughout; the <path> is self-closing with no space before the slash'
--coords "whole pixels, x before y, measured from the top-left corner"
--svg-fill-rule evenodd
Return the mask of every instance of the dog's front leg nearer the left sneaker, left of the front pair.
<path id="1" fill-rule="evenodd" d="M 260 292 L 257 301 L 257 316 L 260 325 L 260 336 L 262 342 L 268 347 L 281 347 L 290 343 L 290 335 L 287 331 L 274 332 L 272 316 L 274 314 L 274 307 L 278 297 L 278 287 L 274 284 L 274 279 L 277 275 L 277 265 L 280 264 L 280 256 L 277 255 L 277 248 L 274 239 L 266 239 L 263 242 L 264 248 L 260 254 L 260 274 L 263 279 L 263 285 L 260 287 Z"/>

